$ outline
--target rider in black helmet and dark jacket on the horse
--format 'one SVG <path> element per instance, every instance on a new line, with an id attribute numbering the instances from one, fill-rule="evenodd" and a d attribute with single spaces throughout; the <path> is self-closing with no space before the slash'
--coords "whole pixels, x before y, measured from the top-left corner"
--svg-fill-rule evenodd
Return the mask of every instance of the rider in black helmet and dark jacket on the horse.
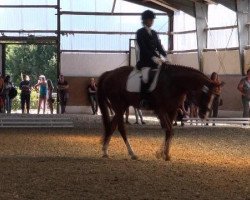
<path id="1" fill-rule="evenodd" d="M 141 87 L 141 106 L 147 107 L 146 100 L 148 89 L 154 79 L 156 70 L 160 68 L 163 62 L 168 62 L 167 54 L 161 45 L 156 31 L 151 29 L 154 23 L 155 14 L 151 10 L 146 10 L 141 15 L 143 27 L 136 33 L 136 40 L 139 48 L 139 57 L 137 62 L 137 69 L 141 70 L 143 67 L 150 68 L 150 75 L 148 83 L 142 81 Z M 163 59 L 161 58 L 163 57 Z"/>

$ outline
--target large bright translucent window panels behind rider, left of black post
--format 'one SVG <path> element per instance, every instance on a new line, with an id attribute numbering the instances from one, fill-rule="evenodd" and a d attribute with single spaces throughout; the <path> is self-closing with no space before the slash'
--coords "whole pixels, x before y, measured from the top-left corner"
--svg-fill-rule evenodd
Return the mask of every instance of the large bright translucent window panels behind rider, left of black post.
<path id="1" fill-rule="evenodd" d="M 112 0 L 62 0 L 62 10 L 85 11 L 85 12 L 107 12 L 111 13 Z M 99 15 L 62 15 L 62 31 L 94 31 L 95 34 L 68 34 L 62 36 L 62 49 L 64 50 L 108 50 L 129 51 L 129 40 L 135 39 L 135 32 L 142 27 L 141 12 L 148 9 L 140 5 L 117 0 L 115 13 L 136 13 L 128 16 L 99 16 Z M 162 13 L 153 10 L 156 13 Z M 167 50 L 168 48 L 168 16 L 158 15 L 153 29 L 159 32 L 159 38 Z M 98 32 L 117 32 L 117 34 L 101 34 Z M 128 32 L 131 32 L 129 34 Z"/>

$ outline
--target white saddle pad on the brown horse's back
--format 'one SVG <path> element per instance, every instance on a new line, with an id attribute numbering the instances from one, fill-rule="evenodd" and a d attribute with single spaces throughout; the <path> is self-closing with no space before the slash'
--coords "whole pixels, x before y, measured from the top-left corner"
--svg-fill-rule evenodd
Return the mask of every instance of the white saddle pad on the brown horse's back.
<path id="1" fill-rule="evenodd" d="M 160 69 L 155 69 L 157 72 L 155 74 L 154 80 L 149 87 L 149 91 L 152 92 L 157 85 Z M 127 80 L 127 91 L 128 92 L 140 92 L 141 91 L 141 80 L 143 80 L 144 83 L 148 82 L 149 78 L 149 67 L 144 67 L 141 70 L 134 69 L 128 76 Z"/>

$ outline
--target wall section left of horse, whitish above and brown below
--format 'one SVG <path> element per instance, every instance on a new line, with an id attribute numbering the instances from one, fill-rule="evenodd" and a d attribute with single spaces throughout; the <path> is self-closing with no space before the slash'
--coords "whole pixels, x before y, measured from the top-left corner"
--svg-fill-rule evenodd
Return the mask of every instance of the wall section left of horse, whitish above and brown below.
<path id="1" fill-rule="evenodd" d="M 63 53 L 61 73 L 69 82 L 68 113 L 89 113 L 87 86 L 90 77 L 98 78 L 103 72 L 128 65 L 129 54 Z"/>

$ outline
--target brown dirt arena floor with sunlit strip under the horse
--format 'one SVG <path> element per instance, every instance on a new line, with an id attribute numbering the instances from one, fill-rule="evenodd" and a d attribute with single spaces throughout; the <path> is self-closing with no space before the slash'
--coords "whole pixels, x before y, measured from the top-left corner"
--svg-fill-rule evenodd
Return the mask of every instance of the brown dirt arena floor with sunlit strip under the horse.
<path id="1" fill-rule="evenodd" d="M 130 131 L 138 161 L 118 134 L 101 158 L 100 132 L 0 129 L 0 199 L 250 200 L 250 129 L 177 128 L 170 162 L 157 128 Z"/>

